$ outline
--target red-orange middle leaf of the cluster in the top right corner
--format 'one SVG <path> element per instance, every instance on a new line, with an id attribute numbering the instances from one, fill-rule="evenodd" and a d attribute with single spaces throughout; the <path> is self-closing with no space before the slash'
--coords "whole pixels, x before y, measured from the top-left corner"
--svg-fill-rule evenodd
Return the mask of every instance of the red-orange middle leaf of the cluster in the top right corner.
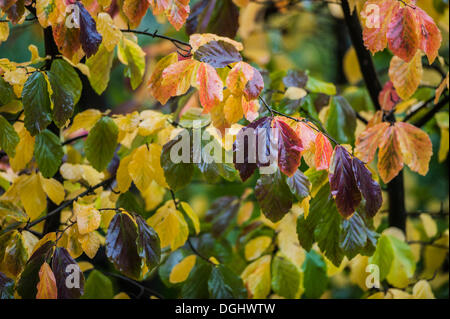
<path id="1" fill-rule="evenodd" d="M 406 62 L 416 54 L 419 48 L 419 25 L 415 10 L 410 7 L 397 8 L 388 26 L 387 39 L 389 49 Z"/>

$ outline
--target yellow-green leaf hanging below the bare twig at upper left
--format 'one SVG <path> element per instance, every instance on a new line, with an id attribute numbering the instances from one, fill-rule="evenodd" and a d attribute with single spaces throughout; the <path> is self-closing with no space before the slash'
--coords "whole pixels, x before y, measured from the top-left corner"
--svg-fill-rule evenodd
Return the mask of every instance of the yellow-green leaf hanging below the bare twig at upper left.
<path id="1" fill-rule="evenodd" d="M 118 47 L 119 60 L 126 65 L 124 75 L 131 80 L 131 88 L 135 90 L 142 82 L 145 71 L 145 52 L 129 39 L 122 39 Z"/>

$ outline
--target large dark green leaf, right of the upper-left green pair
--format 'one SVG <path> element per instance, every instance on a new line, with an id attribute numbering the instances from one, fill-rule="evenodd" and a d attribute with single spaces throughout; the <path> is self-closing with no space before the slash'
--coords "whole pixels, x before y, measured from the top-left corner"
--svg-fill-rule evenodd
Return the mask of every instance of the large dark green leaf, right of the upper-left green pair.
<path id="1" fill-rule="evenodd" d="M 63 127 L 80 99 L 82 84 L 74 68 L 63 59 L 52 62 L 48 79 L 53 91 L 53 121 L 58 127 Z"/>

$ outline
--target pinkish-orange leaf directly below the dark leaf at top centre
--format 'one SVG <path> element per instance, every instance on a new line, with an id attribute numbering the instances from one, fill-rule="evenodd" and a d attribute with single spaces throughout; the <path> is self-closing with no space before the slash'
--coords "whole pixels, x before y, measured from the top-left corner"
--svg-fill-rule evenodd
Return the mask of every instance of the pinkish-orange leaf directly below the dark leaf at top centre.
<path id="1" fill-rule="evenodd" d="M 209 113 L 215 105 L 223 100 L 223 82 L 216 69 L 207 63 L 200 63 L 197 86 L 203 112 Z"/>

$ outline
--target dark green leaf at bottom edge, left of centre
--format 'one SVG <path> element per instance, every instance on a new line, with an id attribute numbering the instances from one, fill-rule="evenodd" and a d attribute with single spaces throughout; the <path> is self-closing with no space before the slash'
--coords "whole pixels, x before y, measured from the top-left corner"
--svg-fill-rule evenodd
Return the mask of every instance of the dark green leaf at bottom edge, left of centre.
<path id="1" fill-rule="evenodd" d="M 197 264 L 181 289 L 181 297 L 185 299 L 206 299 L 209 297 L 208 281 L 212 265 L 197 258 Z"/>

